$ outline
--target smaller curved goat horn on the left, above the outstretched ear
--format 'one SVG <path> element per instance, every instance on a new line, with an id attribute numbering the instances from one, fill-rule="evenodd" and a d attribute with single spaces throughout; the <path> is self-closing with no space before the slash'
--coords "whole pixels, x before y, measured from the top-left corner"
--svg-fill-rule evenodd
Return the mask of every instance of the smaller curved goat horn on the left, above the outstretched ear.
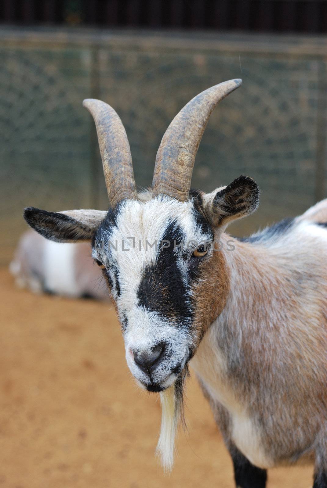
<path id="1" fill-rule="evenodd" d="M 83 106 L 92 115 L 98 135 L 109 203 L 136 197 L 131 149 L 123 123 L 108 103 L 88 98 Z"/>

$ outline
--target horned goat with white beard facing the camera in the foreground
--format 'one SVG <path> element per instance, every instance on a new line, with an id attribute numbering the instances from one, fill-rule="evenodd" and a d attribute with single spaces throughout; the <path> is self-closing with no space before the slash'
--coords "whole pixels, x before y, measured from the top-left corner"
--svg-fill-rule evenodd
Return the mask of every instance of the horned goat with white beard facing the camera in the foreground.
<path id="1" fill-rule="evenodd" d="M 91 242 L 128 366 L 140 385 L 160 393 L 164 467 L 173 464 L 190 365 L 237 486 L 263 488 L 267 468 L 314 461 L 314 488 L 326 488 L 327 201 L 231 244 L 226 227 L 256 210 L 257 184 L 240 176 L 209 194 L 190 190 L 209 116 L 240 84 L 213 86 L 177 114 L 143 194 L 118 115 L 104 102 L 84 101 L 97 128 L 109 211 L 29 207 L 24 216 L 50 240 Z"/>

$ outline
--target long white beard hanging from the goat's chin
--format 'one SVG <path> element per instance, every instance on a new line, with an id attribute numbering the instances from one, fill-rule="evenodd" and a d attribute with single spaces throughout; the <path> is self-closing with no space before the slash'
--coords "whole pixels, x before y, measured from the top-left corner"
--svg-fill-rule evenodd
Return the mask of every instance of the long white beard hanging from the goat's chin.
<path id="1" fill-rule="evenodd" d="M 177 377 L 174 385 L 159 393 L 161 401 L 161 428 L 156 448 L 161 466 L 170 473 L 174 466 L 175 437 L 178 427 L 186 427 L 184 418 L 184 382 L 189 375 L 188 367 Z"/>

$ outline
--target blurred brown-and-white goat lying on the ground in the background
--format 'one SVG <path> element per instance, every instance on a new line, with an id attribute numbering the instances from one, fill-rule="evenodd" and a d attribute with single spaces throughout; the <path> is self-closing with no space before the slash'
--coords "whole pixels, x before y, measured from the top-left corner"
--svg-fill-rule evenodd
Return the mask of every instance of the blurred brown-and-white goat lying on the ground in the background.
<path id="1" fill-rule="evenodd" d="M 16 285 L 34 293 L 108 300 L 101 269 L 94 266 L 88 243 L 59 244 L 34 230 L 24 232 L 9 270 Z"/>

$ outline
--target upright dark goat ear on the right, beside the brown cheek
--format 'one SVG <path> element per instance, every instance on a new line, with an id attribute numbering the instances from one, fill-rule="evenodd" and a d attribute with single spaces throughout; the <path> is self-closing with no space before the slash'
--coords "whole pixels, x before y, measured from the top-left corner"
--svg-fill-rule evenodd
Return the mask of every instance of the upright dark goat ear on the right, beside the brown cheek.
<path id="1" fill-rule="evenodd" d="M 207 196 L 206 211 L 215 226 L 224 228 L 231 221 L 254 212 L 259 205 L 259 195 L 259 187 L 252 178 L 239 176 Z"/>

